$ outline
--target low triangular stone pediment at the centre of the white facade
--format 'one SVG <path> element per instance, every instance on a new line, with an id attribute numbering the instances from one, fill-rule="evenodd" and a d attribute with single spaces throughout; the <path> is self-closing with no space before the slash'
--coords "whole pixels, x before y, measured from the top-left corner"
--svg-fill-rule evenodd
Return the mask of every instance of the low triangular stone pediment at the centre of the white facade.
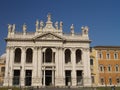
<path id="1" fill-rule="evenodd" d="M 44 33 L 37 35 L 33 38 L 34 40 L 65 40 L 60 35 L 54 34 L 54 33 Z"/>

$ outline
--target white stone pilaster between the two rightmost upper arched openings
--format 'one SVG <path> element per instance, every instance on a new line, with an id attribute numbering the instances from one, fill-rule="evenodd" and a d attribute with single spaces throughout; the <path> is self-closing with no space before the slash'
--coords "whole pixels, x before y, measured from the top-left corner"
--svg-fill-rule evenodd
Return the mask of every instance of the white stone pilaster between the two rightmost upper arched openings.
<path id="1" fill-rule="evenodd" d="M 76 56 L 75 56 L 75 48 L 72 48 L 72 54 L 71 54 L 71 62 L 72 62 L 72 78 L 71 83 L 72 86 L 76 86 Z"/>

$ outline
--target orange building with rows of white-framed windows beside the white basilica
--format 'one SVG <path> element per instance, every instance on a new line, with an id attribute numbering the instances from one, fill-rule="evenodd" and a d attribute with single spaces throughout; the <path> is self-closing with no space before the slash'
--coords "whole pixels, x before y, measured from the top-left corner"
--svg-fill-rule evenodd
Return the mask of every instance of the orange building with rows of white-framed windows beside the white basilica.
<path id="1" fill-rule="evenodd" d="M 119 85 L 120 46 L 95 46 L 99 86 Z"/>

